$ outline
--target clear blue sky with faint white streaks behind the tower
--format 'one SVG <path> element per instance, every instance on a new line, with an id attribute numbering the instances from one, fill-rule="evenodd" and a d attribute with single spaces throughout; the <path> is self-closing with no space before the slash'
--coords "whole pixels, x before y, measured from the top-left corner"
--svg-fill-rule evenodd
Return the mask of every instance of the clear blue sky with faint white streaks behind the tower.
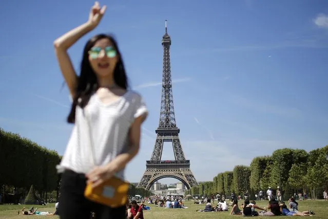
<path id="1" fill-rule="evenodd" d="M 90 36 L 113 33 L 149 117 L 127 179 L 139 181 L 159 122 L 164 20 L 171 36 L 180 139 L 199 181 L 279 148 L 328 144 L 328 2 L 104 1 L 100 26 L 70 50 L 76 69 Z M 92 1 L 1 1 L 0 126 L 64 153 L 68 90 L 52 42 L 86 22 Z M 172 159 L 164 144 L 163 159 Z M 211 166 L 211 168 L 208 168 Z M 175 182 L 175 179 L 163 179 Z"/>

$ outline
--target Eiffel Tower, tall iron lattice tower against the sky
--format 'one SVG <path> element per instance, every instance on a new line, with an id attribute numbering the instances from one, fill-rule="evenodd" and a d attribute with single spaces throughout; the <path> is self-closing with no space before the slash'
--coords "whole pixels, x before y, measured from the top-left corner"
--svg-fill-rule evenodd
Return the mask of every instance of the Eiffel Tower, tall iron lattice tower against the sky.
<path id="1" fill-rule="evenodd" d="M 137 187 L 150 189 L 157 180 L 171 177 L 182 181 L 187 189 L 190 189 L 198 185 L 198 182 L 190 170 L 190 160 L 186 160 L 184 156 L 179 138 L 180 129 L 176 124 L 170 67 L 171 38 L 167 34 L 166 21 L 162 45 L 164 57 L 160 122 L 156 130 L 157 137 L 151 158 L 146 161 L 146 171 Z M 162 160 L 164 142 L 172 142 L 175 160 Z"/>

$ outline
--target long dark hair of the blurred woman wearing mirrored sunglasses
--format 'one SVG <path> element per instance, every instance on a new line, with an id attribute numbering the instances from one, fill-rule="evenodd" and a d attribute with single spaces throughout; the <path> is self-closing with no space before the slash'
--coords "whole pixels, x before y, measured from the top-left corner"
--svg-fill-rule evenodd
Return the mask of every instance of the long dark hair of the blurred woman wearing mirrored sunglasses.
<path id="1" fill-rule="evenodd" d="M 83 57 L 81 62 L 81 73 L 80 76 L 78 76 L 78 84 L 75 88 L 75 96 L 73 97 L 73 103 L 71 107 L 71 111 L 67 117 L 68 123 L 74 123 L 75 122 L 75 109 L 76 106 L 80 106 L 84 108 L 93 94 L 95 90 L 98 89 L 98 81 L 97 77 L 94 73 L 94 71 L 91 68 L 90 62 L 89 62 L 89 50 L 94 46 L 94 44 L 101 40 L 101 39 L 108 39 L 113 44 L 113 47 L 117 50 L 117 55 L 119 57 L 119 61 L 115 66 L 113 77 L 114 82 L 119 87 L 123 89 L 128 88 L 128 80 L 124 68 L 124 63 L 122 60 L 121 52 L 119 50 L 117 42 L 114 40 L 114 38 L 107 34 L 98 34 L 93 36 L 85 45 L 83 50 Z"/>

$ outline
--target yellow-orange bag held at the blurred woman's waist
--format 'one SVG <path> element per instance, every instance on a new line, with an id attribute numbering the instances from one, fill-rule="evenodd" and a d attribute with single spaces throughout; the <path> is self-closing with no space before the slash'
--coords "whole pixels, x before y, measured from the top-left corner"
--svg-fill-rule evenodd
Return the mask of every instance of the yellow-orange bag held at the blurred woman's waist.
<path id="1" fill-rule="evenodd" d="M 116 208 L 126 204 L 128 190 L 128 182 L 112 177 L 95 188 L 92 183 L 87 184 L 84 196 L 92 202 Z"/>

